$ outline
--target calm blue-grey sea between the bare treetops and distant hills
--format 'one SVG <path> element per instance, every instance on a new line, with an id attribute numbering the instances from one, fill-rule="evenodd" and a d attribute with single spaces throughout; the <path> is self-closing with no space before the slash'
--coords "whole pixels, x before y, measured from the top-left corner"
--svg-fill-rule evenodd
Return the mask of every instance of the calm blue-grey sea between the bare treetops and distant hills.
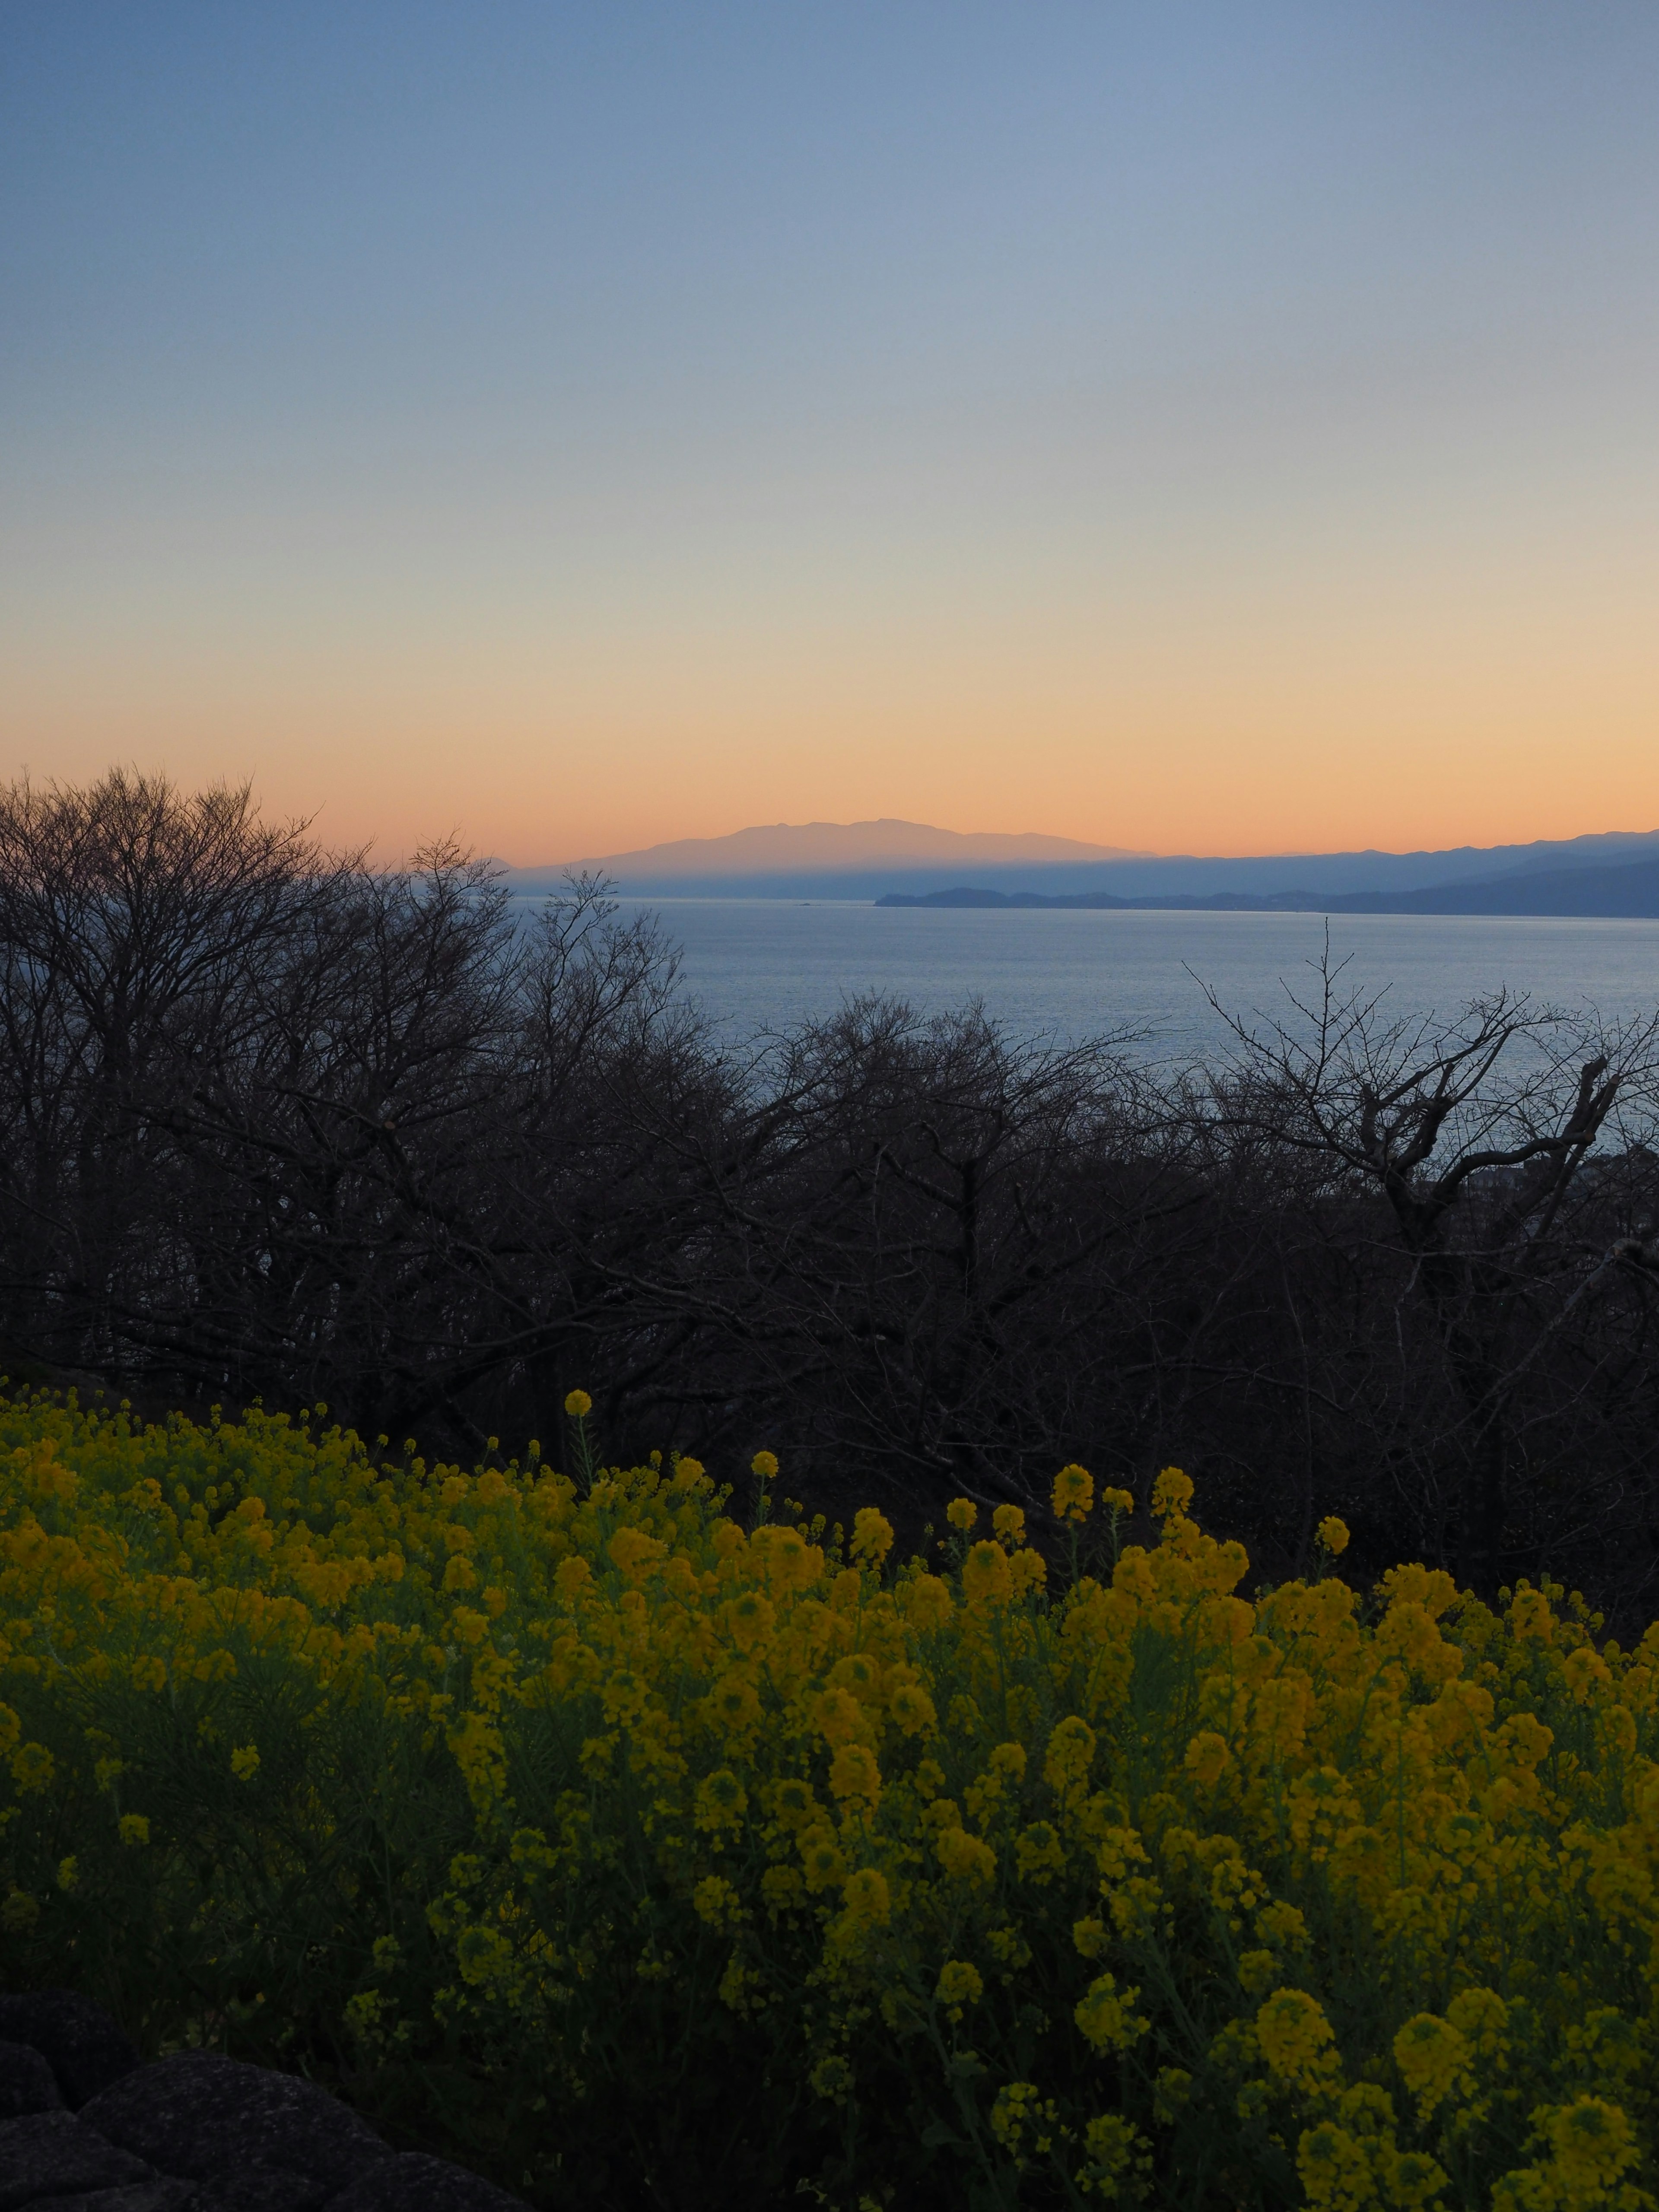
<path id="1" fill-rule="evenodd" d="M 787 1029 L 880 991 L 938 1013 L 982 1000 L 1022 1037 L 1133 1029 L 1139 1051 L 1183 1060 L 1221 1040 L 1203 998 L 1290 1013 L 1325 945 L 1316 914 L 1044 914 L 787 905 L 761 898 L 628 898 L 684 949 L 684 978 L 721 1035 Z M 1400 1013 L 1455 1013 L 1509 984 L 1604 1018 L 1659 1004 L 1659 922 L 1429 914 L 1334 916 L 1332 951 Z M 1190 971 L 1190 973 L 1188 973 Z M 1194 980 L 1199 978 L 1199 980 Z"/>

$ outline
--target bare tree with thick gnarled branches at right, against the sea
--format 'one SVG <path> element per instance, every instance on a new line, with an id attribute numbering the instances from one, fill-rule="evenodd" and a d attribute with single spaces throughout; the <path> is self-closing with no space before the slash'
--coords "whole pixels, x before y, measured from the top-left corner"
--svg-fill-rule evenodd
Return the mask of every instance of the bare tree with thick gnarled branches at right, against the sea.
<path id="1" fill-rule="evenodd" d="M 1327 1221 L 1380 1201 L 1349 1237 L 1389 1279 L 1400 1387 L 1444 1389 L 1422 1533 L 1493 1590 L 1542 1537 L 1537 1498 L 1515 1495 L 1526 1429 L 1621 1374 L 1630 1329 L 1646 1343 L 1659 1279 L 1650 1183 L 1630 1190 L 1630 1168 L 1648 1159 L 1659 1029 L 1604 1031 L 1509 991 L 1451 1022 L 1394 1018 L 1343 989 L 1329 951 L 1294 1011 L 1294 1029 L 1228 1015 L 1219 1126 L 1301 1155 Z"/>

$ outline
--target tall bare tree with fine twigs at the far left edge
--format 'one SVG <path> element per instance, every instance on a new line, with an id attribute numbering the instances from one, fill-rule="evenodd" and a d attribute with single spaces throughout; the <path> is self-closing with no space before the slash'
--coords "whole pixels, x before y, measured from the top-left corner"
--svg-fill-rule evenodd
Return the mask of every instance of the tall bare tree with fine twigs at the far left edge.
<path id="1" fill-rule="evenodd" d="M 181 1024 L 234 1024 L 325 874 L 248 787 L 113 772 L 0 794 L 4 1296 L 15 1340 L 124 1371 L 133 1303 L 179 1265 L 148 1217 L 170 1137 L 144 1110 Z"/>

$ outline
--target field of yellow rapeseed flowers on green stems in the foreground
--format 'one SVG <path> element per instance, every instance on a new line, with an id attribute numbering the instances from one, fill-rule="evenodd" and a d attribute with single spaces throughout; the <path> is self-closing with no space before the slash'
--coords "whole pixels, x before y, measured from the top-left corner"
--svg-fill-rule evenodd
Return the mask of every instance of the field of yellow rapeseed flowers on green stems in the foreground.
<path id="1" fill-rule="evenodd" d="M 546 2205 L 1655 2205 L 1659 1628 L 776 1475 L 0 1402 L 7 1982 Z"/>

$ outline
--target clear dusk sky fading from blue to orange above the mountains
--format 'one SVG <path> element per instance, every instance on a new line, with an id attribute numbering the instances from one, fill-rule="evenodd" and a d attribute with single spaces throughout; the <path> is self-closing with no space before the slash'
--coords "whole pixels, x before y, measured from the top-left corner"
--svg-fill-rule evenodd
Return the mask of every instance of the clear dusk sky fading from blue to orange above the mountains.
<path id="1" fill-rule="evenodd" d="M 1659 827 L 1652 0 L 7 0 L 0 776 Z"/>

